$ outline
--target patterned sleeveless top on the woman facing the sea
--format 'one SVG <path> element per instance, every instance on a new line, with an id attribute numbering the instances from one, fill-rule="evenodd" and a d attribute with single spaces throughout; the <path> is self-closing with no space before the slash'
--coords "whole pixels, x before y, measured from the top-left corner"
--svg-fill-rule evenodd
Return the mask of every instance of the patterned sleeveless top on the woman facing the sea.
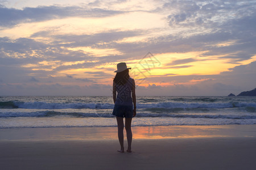
<path id="1" fill-rule="evenodd" d="M 129 78 L 126 84 L 115 84 L 117 90 L 117 100 L 115 105 L 133 105 L 131 90 L 133 89 L 133 79 Z"/>

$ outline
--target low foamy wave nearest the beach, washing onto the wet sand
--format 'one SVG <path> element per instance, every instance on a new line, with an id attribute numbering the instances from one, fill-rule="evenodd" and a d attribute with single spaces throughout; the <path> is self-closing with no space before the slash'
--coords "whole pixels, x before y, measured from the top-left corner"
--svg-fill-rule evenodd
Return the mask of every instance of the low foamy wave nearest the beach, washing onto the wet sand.
<path id="1" fill-rule="evenodd" d="M 179 118 L 179 117 L 137 117 L 132 126 L 172 126 L 172 125 L 253 125 L 256 119 L 230 118 Z M 0 128 L 55 128 L 55 127 L 110 127 L 117 126 L 115 118 L 88 117 L 43 117 L 43 118 L 0 118 Z"/>

